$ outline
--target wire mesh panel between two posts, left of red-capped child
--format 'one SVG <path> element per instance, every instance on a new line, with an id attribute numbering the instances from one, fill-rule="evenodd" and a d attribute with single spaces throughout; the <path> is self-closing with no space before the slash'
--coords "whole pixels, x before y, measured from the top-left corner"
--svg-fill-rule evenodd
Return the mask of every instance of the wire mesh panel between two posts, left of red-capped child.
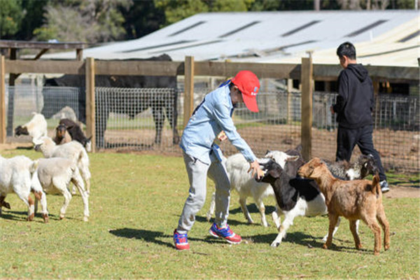
<path id="1" fill-rule="evenodd" d="M 99 148 L 179 144 L 176 89 L 96 87 L 95 99 Z"/>

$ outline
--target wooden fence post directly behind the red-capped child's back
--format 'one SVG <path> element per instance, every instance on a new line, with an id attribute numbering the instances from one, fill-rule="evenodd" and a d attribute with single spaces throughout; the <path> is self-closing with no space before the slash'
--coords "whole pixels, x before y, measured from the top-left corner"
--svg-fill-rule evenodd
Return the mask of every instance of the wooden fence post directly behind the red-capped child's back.
<path id="1" fill-rule="evenodd" d="M 184 75 L 183 125 L 186 127 L 194 110 L 194 57 L 186 57 Z"/>

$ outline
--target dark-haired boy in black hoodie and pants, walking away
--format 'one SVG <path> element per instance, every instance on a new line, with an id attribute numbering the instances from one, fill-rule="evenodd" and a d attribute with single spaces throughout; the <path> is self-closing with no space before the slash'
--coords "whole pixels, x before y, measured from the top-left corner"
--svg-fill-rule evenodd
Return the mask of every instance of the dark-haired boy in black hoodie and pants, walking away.
<path id="1" fill-rule="evenodd" d="M 386 193 L 389 187 L 384 167 L 372 140 L 374 107 L 372 80 L 367 69 L 356 62 L 356 48 L 352 43 L 345 42 L 339 45 L 337 55 L 343 70 L 338 76 L 337 100 L 330 108 L 331 113 L 337 113 L 338 123 L 335 160 L 349 161 L 357 144 L 364 155 L 373 155 L 379 169 L 382 193 Z"/>

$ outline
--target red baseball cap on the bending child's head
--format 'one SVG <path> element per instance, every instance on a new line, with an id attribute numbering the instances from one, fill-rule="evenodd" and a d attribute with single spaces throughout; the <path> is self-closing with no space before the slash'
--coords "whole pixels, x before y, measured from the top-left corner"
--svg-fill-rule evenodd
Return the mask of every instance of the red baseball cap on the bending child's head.
<path id="1" fill-rule="evenodd" d="M 242 99 L 246 108 L 252 112 L 258 112 L 257 93 L 260 90 L 260 81 L 257 76 L 251 71 L 239 71 L 235 78 L 232 78 L 232 83 L 236 85 L 242 92 Z"/>

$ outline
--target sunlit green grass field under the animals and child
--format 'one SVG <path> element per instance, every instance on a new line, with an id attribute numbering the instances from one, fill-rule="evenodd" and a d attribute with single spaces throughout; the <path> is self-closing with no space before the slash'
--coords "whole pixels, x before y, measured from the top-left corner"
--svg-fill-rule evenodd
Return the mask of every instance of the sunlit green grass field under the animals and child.
<path id="1" fill-rule="evenodd" d="M 1 151 L 10 158 L 41 154 Z M 229 223 L 244 238 L 231 246 L 208 234 L 213 183 L 207 202 L 189 233 L 191 250 L 174 249 L 172 233 L 188 195 L 182 158 L 123 153 L 90 154 L 92 187 L 90 221 L 83 222 L 80 195 L 73 196 L 66 218 L 59 221 L 63 197 L 48 195 L 50 223 L 40 215 L 25 221 L 27 207 L 14 194 L 12 209 L 0 218 L 1 279 L 419 279 L 419 199 L 384 199 L 391 225 L 391 248 L 373 255 L 374 239 L 360 223 L 363 250 L 354 248 L 343 220 L 329 250 L 321 248 L 328 218 L 296 218 L 278 248 L 270 223 L 246 224 L 238 195 L 232 193 Z M 392 176 L 398 179 L 398 176 Z M 391 182 L 392 183 L 392 182 Z M 251 204 L 251 205 L 250 205 Z M 267 213 L 274 200 L 265 200 Z M 260 215 L 249 199 L 255 222 Z M 269 218 L 269 216 L 267 217 Z M 269 222 L 270 222 L 269 218 Z M 382 235 L 383 236 L 383 235 Z"/>

